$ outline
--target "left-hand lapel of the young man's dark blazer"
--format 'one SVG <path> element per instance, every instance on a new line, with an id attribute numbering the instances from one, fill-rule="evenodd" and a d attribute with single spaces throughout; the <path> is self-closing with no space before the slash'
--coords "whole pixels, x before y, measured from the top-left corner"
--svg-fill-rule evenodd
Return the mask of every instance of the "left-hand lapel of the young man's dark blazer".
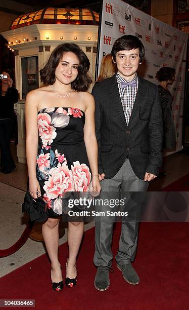
<path id="1" fill-rule="evenodd" d="M 115 104 L 116 108 L 118 109 L 118 112 L 122 118 L 122 120 L 124 121 L 125 126 L 127 126 L 126 120 L 125 120 L 125 115 L 124 115 L 124 111 L 123 111 L 123 106 L 121 103 L 121 98 L 119 95 L 119 89 L 118 89 L 118 85 L 117 85 L 117 80 L 116 80 L 116 74 L 114 74 L 112 76 L 112 83 L 110 85 L 110 94 L 113 98 L 113 103 Z"/>

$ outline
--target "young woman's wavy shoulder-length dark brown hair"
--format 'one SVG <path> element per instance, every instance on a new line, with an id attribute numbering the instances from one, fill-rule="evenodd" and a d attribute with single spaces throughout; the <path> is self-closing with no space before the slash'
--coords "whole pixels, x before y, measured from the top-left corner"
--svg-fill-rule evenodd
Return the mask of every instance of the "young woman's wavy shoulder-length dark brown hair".
<path id="1" fill-rule="evenodd" d="M 87 73 L 90 62 L 82 49 L 74 43 L 64 43 L 55 48 L 44 68 L 40 70 L 41 82 L 43 82 L 44 85 L 53 85 L 55 83 L 55 70 L 64 53 L 67 52 L 74 53 L 79 59 L 79 65 L 77 67 L 78 75 L 77 78 L 71 83 L 71 88 L 76 91 L 84 92 L 88 89 L 89 84 L 92 82 Z"/>

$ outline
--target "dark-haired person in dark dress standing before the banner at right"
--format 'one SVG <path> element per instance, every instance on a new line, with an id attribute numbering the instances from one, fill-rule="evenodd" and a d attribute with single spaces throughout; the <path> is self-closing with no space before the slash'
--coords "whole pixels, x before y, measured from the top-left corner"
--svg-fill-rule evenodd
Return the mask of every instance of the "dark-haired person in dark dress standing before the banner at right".
<path id="1" fill-rule="evenodd" d="M 176 147 L 176 133 L 172 118 L 172 95 L 168 90 L 168 85 L 172 85 L 175 81 L 175 69 L 171 67 L 162 67 L 156 73 L 156 79 L 159 82 L 158 91 L 161 101 L 163 113 L 163 149 L 172 151 Z M 166 176 L 166 173 L 160 171 L 160 176 Z"/>

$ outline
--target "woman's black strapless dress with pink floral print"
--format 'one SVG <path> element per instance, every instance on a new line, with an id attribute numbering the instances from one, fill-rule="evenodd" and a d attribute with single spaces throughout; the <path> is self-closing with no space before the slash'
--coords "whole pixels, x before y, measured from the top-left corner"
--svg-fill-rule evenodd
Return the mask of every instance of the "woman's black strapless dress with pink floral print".
<path id="1" fill-rule="evenodd" d="M 37 123 L 36 175 L 49 217 L 57 217 L 64 213 L 64 199 L 70 192 L 88 191 L 91 173 L 83 140 L 85 115 L 78 108 L 44 108 L 38 112 Z"/>

